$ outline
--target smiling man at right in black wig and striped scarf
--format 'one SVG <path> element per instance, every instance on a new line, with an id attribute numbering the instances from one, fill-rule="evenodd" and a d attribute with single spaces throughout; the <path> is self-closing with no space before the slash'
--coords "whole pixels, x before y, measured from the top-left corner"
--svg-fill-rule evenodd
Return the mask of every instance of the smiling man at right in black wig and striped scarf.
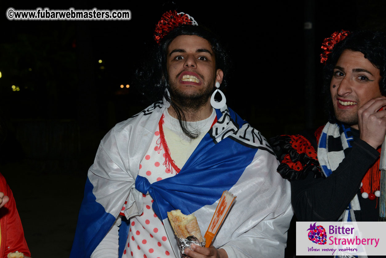
<path id="1" fill-rule="evenodd" d="M 347 36 L 348 35 L 348 36 Z M 334 45 L 336 42 L 336 45 Z M 379 153 L 386 134 L 386 35 L 335 32 L 322 62 L 329 122 L 274 139 L 300 221 L 378 221 Z"/>

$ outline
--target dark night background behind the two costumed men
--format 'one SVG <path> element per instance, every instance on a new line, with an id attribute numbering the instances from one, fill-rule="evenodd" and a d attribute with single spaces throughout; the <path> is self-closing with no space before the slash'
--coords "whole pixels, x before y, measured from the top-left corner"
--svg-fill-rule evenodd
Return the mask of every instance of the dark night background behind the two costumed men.
<path id="1" fill-rule="evenodd" d="M 8 7 L 129 9 L 132 19 L 8 21 Z M 155 44 L 152 34 L 164 12 L 186 12 L 222 38 L 234 64 L 225 75 L 227 104 L 270 138 L 325 123 L 323 39 L 340 29 L 385 30 L 385 7 L 364 0 L 1 1 L 0 118 L 7 137 L 0 172 L 14 192 L 32 257 L 69 256 L 100 140 L 115 123 L 151 104 L 134 74 Z M 311 29 L 304 29 L 305 22 L 312 22 Z M 288 246 L 291 257 L 295 241 Z"/>

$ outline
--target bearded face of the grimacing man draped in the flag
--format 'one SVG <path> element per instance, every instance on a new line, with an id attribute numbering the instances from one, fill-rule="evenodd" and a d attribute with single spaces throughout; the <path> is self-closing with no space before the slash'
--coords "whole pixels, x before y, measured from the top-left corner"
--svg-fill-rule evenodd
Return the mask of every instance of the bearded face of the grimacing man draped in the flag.
<path id="1" fill-rule="evenodd" d="M 190 111 L 207 104 L 215 81 L 222 80 L 209 42 L 195 35 L 173 39 L 168 46 L 167 70 L 172 101 Z"/>

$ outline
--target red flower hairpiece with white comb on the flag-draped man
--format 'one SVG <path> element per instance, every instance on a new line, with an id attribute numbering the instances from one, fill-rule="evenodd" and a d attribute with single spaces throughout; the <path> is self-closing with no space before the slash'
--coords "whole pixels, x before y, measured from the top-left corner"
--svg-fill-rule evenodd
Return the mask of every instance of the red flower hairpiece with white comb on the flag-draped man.
<path id="1" fill-rule="evenodd" d="M 189 14 L 177 13 L 176 10 L 164 13 L 154 30 L 154 40 L 159 44 L 164 36 L 183 24 L 198 25 Z"/>

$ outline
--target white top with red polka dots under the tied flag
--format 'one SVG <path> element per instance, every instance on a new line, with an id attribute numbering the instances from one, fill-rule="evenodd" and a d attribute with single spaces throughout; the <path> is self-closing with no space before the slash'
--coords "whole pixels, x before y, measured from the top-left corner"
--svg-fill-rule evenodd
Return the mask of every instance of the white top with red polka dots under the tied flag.
<path id="1" fill-rule="evenodd" d="M 200 128 L 202 130 L 199 137 L 192 140 L 186 140 L 185 135 L 181 133 L 179 122 L 171 117 L 166 110 L 164 112 L 164 133 L 170 144 L 169 148 L 176 154 L 179 166 L 183 166 L 194 151 L 202 137 L 210 129 L 215 119 L 215 111 L 213 109 L 209 118 L 189 122 L 193 128 Z M 168 134 L 168 136 L 166 136 Z M 169 155 L 165 154 L 165 149 L 169 151 L 168 147 L 161 144 L 161 137 L 159 127 L 154 133 L 152 144 L 147 150 L 145 157 L 139 165 L 139 175 L 147 178 L 150 183 L 160 181 L 165 178 L 176 175 L 179 168 L 171 160 Z M 182 155 L 181 155 L 182 154 Z M 165 156 L 167 158 L 165 158 Z M 181 156 L 181 157 L 179 157 Z M 153 199 L 150 195 L 142 195 L 143 198 L 143 213 L 141 216 L 135 216 L 130 219 L 129 237 L 127 239 L 123 258 L 170 258 L 175 257 L 173 249 L 166 235 L 165 227 L 162 221 L 157 217 L 152 209 Z M 125 203 L 126 204 L 126 203 Z M 124 208 L 122 208 L 123 214 Z M 176 241 L 172 239 L 172 241 Z"/>

